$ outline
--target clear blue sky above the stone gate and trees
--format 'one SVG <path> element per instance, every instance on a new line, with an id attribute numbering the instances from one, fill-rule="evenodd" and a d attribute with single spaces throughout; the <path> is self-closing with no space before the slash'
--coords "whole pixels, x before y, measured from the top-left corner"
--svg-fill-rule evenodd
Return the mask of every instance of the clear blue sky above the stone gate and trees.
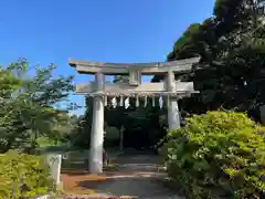
<path id="1" fill-rule="evenodd" d="M 103 62 L 165 61 L 193 22 L 212 14 L 214 0 L 8 0 L 0 2 L 0 65 L 26 57 L 80 75 L 67 59 Z M 145 78 L 149 81 L 149 78 Z M 71 100 L 82 104 L 82 96 Z M 84 108 L 76 111 L 82 114 Z"/>

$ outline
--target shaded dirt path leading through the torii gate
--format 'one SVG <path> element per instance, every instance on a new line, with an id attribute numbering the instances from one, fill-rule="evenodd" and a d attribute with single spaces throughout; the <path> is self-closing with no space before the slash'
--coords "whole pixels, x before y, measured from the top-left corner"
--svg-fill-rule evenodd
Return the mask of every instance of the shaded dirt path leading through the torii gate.
<path id="1" fill-rule="evenodd" d="M 156 156 L 135 155 L 116 160 L 119 169 L 105 175 L 96 185 L 89 180 L 78 181 L 78 186 L 96 190 L 91 198 L 142 198 L 181 199 L 159 181 L 165 174 L 158 172 Z M 100 196 L 100 197 L 99 197 Z"/>

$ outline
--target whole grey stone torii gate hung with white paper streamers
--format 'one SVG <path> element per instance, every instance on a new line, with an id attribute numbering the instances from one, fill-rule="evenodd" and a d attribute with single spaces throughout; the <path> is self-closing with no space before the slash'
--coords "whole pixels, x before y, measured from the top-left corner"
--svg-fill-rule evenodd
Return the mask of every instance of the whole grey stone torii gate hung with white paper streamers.
<path id="1" fill-rule="evenodd" d="M 174 80 L 174 74 L 190 71 L 192 64 L 198 63 L 200 57 L 179 60 L 172 62 L 153 63 L 106 63 L 68 60 L 78 73 L 95 75 L 95 82 L 76 85 L 76 94 L 94 97 L 93 101 L 93 124 L 91 134 L 91 172 L 103 171 L 103 142 L 104 142 L 104 106 L 108 97 L 113 98 L 115 106 L 118 98 L 119 105 L 128 104 L 129 97 L 136 97 L 136 106 L 139 105 L 139 97 L 162 97 L 168 106 L 169 129 L 180 127 L 180 115 L 178 98 L 190 96 L 197 93 L 193 82 L 180 82 Z M 159 83 L 141 83 L 141 75 L 163 74 L 166 81 Z M 105 83 L 105 75 L 129 75 L 129 83 Z"/>

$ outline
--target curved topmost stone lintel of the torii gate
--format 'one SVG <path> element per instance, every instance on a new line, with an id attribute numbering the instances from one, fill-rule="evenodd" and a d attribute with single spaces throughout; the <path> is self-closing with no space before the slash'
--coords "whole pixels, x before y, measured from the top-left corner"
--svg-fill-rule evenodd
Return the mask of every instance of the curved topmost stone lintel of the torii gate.
<path id="1" fill-rule="evenodd" d="M 150 62 L 150 63 L 107 63 L 88 62 L 80 60 L 68 60 L 68 64 L 76 67 L 78 73 L 106 75 L 128 74 L 131 71 L 138 71 L 144 75 L 165 74 L 169 71 L 173 73 L 190 71 L 192 64 L 198 63 L 200 57 L 178 60 L 171 62 Z"/>

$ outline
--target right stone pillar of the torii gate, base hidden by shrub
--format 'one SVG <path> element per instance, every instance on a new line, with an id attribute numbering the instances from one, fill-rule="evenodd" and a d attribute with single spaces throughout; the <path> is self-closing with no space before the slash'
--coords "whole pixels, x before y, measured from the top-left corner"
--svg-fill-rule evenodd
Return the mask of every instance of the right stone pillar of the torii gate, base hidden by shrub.
<path id="1" fill-rule="evenodd" d="M 172 71 L 168 72 L 167 85 L 168 85 L 169 92 L 176 91 L 174 73 Z M 177 97 L 169 97 L 168 125 L 169 125 L 169 129 L 180 128 L 180 114 L 179 114 L 179 105 L 178 105 Z"/>

